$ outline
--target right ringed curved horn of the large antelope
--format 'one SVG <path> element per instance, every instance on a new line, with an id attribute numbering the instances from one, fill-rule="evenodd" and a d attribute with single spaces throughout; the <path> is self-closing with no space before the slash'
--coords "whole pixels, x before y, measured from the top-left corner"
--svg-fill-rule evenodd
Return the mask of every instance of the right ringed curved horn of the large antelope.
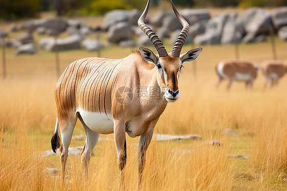
<path id="1" fill-rule="evenodd" d="M 176 17 L 178 18 L 178 20 L 180 21 L 181 25 L 183 26 L 180 34 L 178 35 L 176 41 L 175 41 L 175 45 L 173 47 L 173 51 L 172 51 L 172 56 L 175 57 L 179 57 L 180 56 L 180 51 L 182 49 L 182 46 L 184 44 L 184 41 L 187 37 L 188 31 L 189 31 L 189 25 L 188 22 L 179 14 L 179 12 L 176 10 L 173 1 L 171 0 L 171 4 L 174 10 L 174 13 L 176 15 Z"/>

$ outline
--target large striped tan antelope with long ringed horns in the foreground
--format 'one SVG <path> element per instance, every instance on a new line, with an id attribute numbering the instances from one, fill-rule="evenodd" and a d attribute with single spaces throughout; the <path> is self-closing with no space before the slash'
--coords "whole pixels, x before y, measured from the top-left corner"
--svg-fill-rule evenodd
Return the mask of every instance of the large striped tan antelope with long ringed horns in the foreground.
<path id="1" fill-rule="evenodd" d="M 154 127 L 168 102 L 180 97 L 178 89 L 182 64 L 195 60 L 202 51 L 199 47 L 180 55 L 189 25 L 173 10 L 183 29 L 173 50 L 167 53 L 161 40 L 143 21 L 150 1 L 138 19 L 139 28 L 153 42 L 158 55 L 144 47 L 122 59 L 83 58 L 67 66 L 55 86 L 57 120 L 51 139 L 52 149 L 60 148 L 61 177 L 64 179 L 68 147 L 77 118 L 86 132 L 86 141 L 81 153 L 82 166 L 88 178 L 91 151 L 100 134 L 114 133 L 121 187 L 124 185 L 124 168 L 127 158 L 126 132 L 130 137 L 140 136 L 138 146 L 138 186 L 146 160 L 146 151 L 151 142 Z M 157 97 L 143 97 L 138 89 L 145 87 L 147 93 L 157 88 Z M 127 97 L 123 97 L 126 94 Z M 141 102 L 146 99 L 148 102 Z M 153 103 L 153 104 L 147 104 Z M 61 130 L 62 144 L 58 130 Z"/>

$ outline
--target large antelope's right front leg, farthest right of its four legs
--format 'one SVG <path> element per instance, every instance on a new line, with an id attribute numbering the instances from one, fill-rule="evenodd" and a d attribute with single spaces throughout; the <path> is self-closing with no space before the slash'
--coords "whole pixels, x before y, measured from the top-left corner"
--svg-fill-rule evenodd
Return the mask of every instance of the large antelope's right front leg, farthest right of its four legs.
<path id="1" fill-rule="evenodd" d="M 151 143 L 153 132 L 154 132 L 154 128 L 152 128 L 147 134 L 141 135 L 139 139 L 138 155 L 137 155 L 137 163 L 138 163 L 137 189 L 140 188 L 142 172 L 143 172 L 143 168 L 145 168 L 145 163 L 146 163 L 146 153 Z"/>

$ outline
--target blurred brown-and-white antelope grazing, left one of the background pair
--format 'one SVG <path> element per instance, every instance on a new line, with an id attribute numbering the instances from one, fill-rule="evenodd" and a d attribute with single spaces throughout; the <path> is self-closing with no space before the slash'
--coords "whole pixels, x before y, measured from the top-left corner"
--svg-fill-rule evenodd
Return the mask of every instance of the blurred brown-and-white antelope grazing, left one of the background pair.
<path id="1" fill-rule="evenodd" d="M 227 89 L 230 89 L 233 81 L 244 81 L 246 88 L 252 89 L 253 81 L 257 76 L 257 66 L 247 60 L 223 60 L 216 65 L 216 73 L 219 76 L 220 85 L 223 79 L 229 80 Z"/>

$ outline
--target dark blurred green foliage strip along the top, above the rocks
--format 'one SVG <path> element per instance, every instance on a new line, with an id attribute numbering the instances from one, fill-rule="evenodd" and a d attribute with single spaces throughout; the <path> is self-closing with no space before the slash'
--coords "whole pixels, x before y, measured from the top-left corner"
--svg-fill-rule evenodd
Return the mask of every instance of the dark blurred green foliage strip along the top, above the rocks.
<path id="1" fill-rule="evenodd" d="M 152 0 L 153 6 L 169 0 Z M 14 20 L 37 17 L 41 11 L 56 11 L 57 15 L 103 15 L 113 9 L 142 9 L 147 0 L 0 0 L 0 19 Z M 177 6 L 208 7 L 279 7 L 287 6 L 287 0 L 174 0 Z"/>

